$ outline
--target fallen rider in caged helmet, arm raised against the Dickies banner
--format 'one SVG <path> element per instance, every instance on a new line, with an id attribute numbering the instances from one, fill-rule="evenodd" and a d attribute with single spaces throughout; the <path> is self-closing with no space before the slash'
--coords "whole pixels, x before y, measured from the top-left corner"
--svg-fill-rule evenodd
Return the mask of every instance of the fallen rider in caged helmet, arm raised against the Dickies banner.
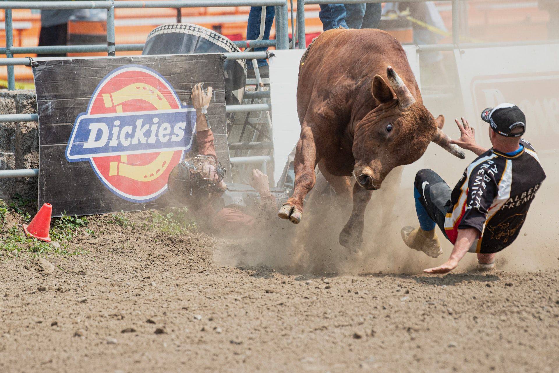
<path id="1" fill-rule="evenodd" d="M 225 168 L 217 161 L 214 134 L 206 115 L 211 97 L 211 87 L 207 93 L 203 92 L 201 84 L 192 89 L 198 155 L 187 157 L 171 171 L 169 192 L 187 204 L 211 232 L 246 235 L 257 225 L 276 217 L 277 208 L 285 202 L 287 193 L 285 189 L 271 190 L 268 176 L 260 170 L 252 170 L 249 179 L 252 188 L 224 183 Z"/>

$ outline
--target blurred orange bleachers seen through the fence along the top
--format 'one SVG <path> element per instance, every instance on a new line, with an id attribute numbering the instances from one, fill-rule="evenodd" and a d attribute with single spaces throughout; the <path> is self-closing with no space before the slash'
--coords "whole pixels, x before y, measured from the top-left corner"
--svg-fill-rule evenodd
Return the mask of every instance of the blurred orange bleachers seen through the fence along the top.
<path id="1" fill-rule="evenodd" d="M 467 30 L 465 34 L 476 41 L 491 40 L 492 35 L 499 35 L 499 41 L 519 41 L 530 39 L 542 39 L 547 36 L 548 12 L 538 8 L 538 2 L 525 1 L 472 1 L 468 2 Z M 440 15 L 448 30 L 452 29 L 450 2 L 437 2 Z M 296 2 L 294 2 L 296 7 Z M 182 22 L 196 23 L 211 28 L 229 37 L 231 40 L 245 40 L 247 35 L 247 18 L 250 7 L 212 7 L 212 8 L 182 8 Z M 294 9 L 295 11 L 295 9 Z M 307 40 L 317 36 L 322 31 L 319 20 L 319 6 L 311 5 L 305 7 L 306 12 L 306 37 Z M 289 13 L 291 14 L 291 12 Z M 29 9 L 16 9 L 13 15 L 13 45 L 14 46 L 36 46 L 39 40 L 41 27 L 39 11 Z M 115 9 L 115 34 L 116 44 L 139 44 L 144 43 L 146 36 L 153 28 L 164 23 L 176 22 L 177 10 L 172 8 L 153 9 Z M 0 11 L 0 25 L 4 25 L 4 11 Z M 87 26 L 86 26 L 87 23 Z M 390 23 L 385 23 L 389 25 Z M 76 22 L 69 26 L 69 32 L 80 33 L 87 27 L 87 34 L 105 35 L 105 25 L 93 25 L 91 22 L 80 24 Z M 410 43 L 412 32 L 409 27 L 386 27 L 402 44 Z M 291 20 L 290 20 L 291 37 Z M 271 39 L 274 38 L 274 27 L 272 27 Z M 537 36 L 540 36 L 539 38 Z M 447 36 L 440 40 L 441 43 L 451 42 Z M 0 32 L 0 46 L 6 46 L 5 34 Z M 140 51 L 117 52 L 117 55 L 140 54 Z M 78 55 L 78 54 L 73 54 Z M 79 54 L 79 55 L 104 55 L 103 53 Z M 16 55 L 16 57 L 36 55 Z M 15 66 L 16 82 L 32 83 L 31 68 L 26 66 Z M 0 68 L 0 81 L 6 80 L 7 69 Z M 5 82 L 0 82 L 0 86 Z"/>

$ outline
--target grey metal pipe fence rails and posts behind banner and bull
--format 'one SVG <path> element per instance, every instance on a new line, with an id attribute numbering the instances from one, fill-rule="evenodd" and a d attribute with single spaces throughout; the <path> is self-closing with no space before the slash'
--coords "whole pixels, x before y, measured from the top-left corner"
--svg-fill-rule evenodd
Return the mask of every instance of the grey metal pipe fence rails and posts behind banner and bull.
<path id="1" fill-rule="evenodd" d="M 235 6 L 274 6 L 276 7 L 276 40 L 245 40 L 236 41 L 239 47 L 268 47 L 275 46 L 276 49 L 288 49 L 294 47 L 298 41 L 299 49 L 306 48 L 305 42 L 305 4 L 333 4 L 339 3 L 340 0 L 299 0 L 297 1 L 296 18 L 293 15 L 293 2 L 291 3 L 291 27 L 293 41 L 290 43 L 288 39 L 288 0 L 58 0 L 58 1 L 10 1 L 4 0 L 0 2 L 0 9 L 5 9 L 6 16 L 6 47 L 0 48 L 0 54 L 5 54 L 7 58 L 0 59 L 0 66 L 7 66 L 8 69 L 8 89 L 15 89 L 15 75 L 13 66 L 25 65 L 30 66 L 33 62 L 32 58 L 13 58 L 14 54 L 26 53 L 75 53 L 75 52 L 107 52 L 108 56 L 114 56 L 116 51 L 141 51 L 143 44 L 115 44 L 115 8 L 190 8 L 190 7 L 235 7 Z M 400 0 L 400 3 L 425 2 L 427 0 Z M 448 0 L 433 0 L 448 1 Z M 461 43 L 459 31 L 459 2 L 466 0 L 451 0 L 452 12 L 452 44 L 436 44 L 436 45 L 420 45 L 418 52 L 432 51 L 448 51 L 453 49 L 466 49 L 472 47 L 491 47 L 505 45 L 537 45 L 557 43 L 559 40 L 541 40 L 541 41 L 524 41 L 524 42 L 499 42 L 499 43 Z M 506 2 L 506 0 L 503 0 Z M 382 3 L 382 0 L 343 0 L 343 3 Z M 65 46 L 34 46 L 34 47 L 15 47 L 13 46 L 13 27 L 12 27 L 12 9 L 107 9 L 107 44 L 101 45 L 65 45 Z M 295 27 L 296 24 L 296 27 Z M 261 35 L 263 27 L 261 27 Z M 226 53 L 226 59 L 266 59 L 268 52 L 238 52 Z M 254 64 L 255 66 L 257 64 Z M 255 67 L 255 70 L 258 68 Z M 259 77 L 259 74 L 257 73 Z M 262 83 L 260 79 L 258 82 Z M 247 92 L 250 98 L 269 98 L 269 92 Z M 226 112 L 252 112 L 252 111 L 269 111 L 271 106 L 269 103 L 264 104 L 241 104 L 235 106 L 226 106 Z M 0 115 L 0 122 L 22 122 L 37 121 L 37 114 L 5 114 Z M 231 144 L 238 146 L 239 144 Z M 252 149 L 258 146 L 252 144 Z M 240 145 L 239 145 L 240 146 Z M 240 163 L 246 160 L 240 160 Z M 19 171 L 19 172 L 18 172 Z M 36 175 L 36 170 L 3 170 L 0 171 L 0 178 L 12 177 L 28 177 Z"/>

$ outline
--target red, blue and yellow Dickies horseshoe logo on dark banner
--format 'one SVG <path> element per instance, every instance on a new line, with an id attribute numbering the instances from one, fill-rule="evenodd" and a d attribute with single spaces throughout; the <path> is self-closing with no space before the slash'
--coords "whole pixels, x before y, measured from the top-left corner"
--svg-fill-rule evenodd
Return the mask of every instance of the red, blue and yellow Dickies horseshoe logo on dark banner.
<path id="1" fill-rule="evenodd" d="M 157 71 L 122 66 L 101 80 L 75 119 L 66 158 L 89 161 L 119 197 L 148 202 L 167 190 L 170 171 L 192 147 L 195 122 L 195 110 L 181 106 Z"/>

